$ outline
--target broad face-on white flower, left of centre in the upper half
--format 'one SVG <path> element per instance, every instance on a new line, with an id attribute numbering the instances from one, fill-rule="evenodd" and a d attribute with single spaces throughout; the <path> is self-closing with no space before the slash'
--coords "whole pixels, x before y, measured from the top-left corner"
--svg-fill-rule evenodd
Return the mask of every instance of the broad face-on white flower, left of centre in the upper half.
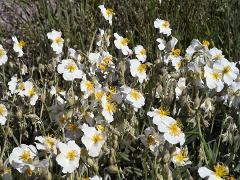
<path id="1" fill-rule="evenodd" d="M 81 79 L 83 75 L 83 72 L 72 59 L 62 60 L 61 64 L 57 66 L 57 71 L 63 74 L 63 79 L 66 81 Z"/>

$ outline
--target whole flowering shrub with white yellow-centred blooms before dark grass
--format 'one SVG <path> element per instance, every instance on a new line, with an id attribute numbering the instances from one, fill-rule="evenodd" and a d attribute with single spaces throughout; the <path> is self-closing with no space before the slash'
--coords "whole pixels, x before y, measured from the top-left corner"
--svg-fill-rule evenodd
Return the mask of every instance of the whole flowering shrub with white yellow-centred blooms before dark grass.
<path id="1" fill-rule="evenodd" d="M 109 29 L 99 29 L 96 46 L 81 52 L 52 30 L 52 57 L 38 69 L 24 63 L 24 40 L 12 37 L 14 52 L 0 45 L 2 177 L 237 177 L 237 63 L 207 40 L 180 49 L 159 18 L 151 63 L 148 49 L 113 32 L 118 12 L 100 5 L 99 13 Z"/>

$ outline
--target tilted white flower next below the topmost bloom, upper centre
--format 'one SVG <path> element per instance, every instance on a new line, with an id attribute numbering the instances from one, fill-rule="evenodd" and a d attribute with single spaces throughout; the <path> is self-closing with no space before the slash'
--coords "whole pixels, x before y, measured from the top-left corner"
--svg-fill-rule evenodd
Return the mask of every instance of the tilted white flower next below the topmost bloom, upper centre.
<path id="1" fill-rule="evenodd" d="M 124 55 L 131 55 L 132 50 L 129 49 L 128 47 L 129 40 L 127 38 L 123 38 L 122 36 L 119 36 L 117 33 L 114 33 L 114 37 L 116 38 L 114 40 L 114 44 L 116 48 L 122 50 L 122 53 Z"/>

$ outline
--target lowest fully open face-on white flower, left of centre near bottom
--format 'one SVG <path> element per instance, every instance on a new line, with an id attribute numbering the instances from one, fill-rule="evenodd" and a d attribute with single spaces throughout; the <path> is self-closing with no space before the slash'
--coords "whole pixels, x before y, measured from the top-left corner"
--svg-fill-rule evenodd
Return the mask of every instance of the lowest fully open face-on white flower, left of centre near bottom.
<path id="1" fill-rule="evenodd" d="M 58 143 L 60 154 L 57 155 L 57 163 L 63 167 L 63 173 L 72 173 L 79 166 L 80 147 L 75 141 L 68 141 L 67 143 Z"/>

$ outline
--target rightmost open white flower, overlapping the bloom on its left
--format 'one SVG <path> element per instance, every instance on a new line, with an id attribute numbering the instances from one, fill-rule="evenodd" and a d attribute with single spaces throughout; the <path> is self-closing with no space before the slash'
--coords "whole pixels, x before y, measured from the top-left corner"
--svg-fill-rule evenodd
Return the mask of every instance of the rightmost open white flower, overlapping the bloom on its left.
<path id="1" fill-rule="evenodd" d="M 239 74 L 239 70 L 236 67 L 236 63 L 229 62 L 227 59 L 218 60 L 213 64 L 213 69 L 219 71 L 223 76 L 223 81 L 231 85 Z"/>

